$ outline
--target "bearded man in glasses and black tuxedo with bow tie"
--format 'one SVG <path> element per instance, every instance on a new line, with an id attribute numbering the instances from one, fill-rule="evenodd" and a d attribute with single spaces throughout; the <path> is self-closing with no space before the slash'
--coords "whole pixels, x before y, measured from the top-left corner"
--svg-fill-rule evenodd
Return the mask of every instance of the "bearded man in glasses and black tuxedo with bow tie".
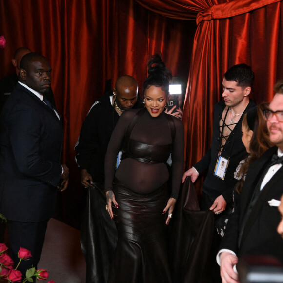
<path id="1" fill-rule="evenodd" d="M 247 172 L 239 205 L 217 255 L 224 283 L 238 282 L 234 265 L 245 255 L 271 255 L 283 262 L 283 241 L 276 232 L 281 219 L 277 206 L 283 193 L 283 81 L 274 90 L 264 116 L 276 146 L 253 162 Z"/>

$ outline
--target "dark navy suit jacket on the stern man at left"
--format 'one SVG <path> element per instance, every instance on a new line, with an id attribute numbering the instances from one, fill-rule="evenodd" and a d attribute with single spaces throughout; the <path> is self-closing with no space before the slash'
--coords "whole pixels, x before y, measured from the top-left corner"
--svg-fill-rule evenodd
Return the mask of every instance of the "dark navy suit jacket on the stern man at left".
<path id="1" fill-rule="evenodd" d="M 0 212 L 12 221 L 48 220 L 62 173 L 61 119 L 18 83 L 0 122 Z"/>

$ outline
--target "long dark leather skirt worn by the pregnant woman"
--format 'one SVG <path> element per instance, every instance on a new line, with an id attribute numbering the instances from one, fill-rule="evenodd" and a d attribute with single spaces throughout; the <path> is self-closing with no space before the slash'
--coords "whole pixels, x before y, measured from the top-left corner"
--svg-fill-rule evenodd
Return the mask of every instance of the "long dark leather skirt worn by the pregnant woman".
<path id="1" fill-rule="evenodd" d="M 137 194 L 119 180 L 113 191 L 118 243 L 109 283 L 170 283 L 165 216 L 166 185 L 151 194 Z"/>

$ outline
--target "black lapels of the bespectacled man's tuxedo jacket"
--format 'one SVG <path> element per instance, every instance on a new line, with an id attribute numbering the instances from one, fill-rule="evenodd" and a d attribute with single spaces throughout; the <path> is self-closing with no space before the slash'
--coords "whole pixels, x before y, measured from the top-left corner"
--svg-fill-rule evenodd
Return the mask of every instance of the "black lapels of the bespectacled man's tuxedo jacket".
<path id="1" fill-rule="evenodd" d="M 249 206 L 250 204 L 250 200 L 252 198 L 252 194 L 254 192 L 254 190 L 256 189 L 257 186 L 257 182 L 258 180 L 261 178 L 261 174 L 263 174 L 263 171 L 265 169 L 265 167 L 268 165 L 270 158 L 272 157 L 272 155 L 277 151 L 277 147 L 273 147 L 270 150 L 268 150 L 268 154 L 264 154 L 264 156 L 262 156 L 262 158 L 260 158 L 261 160 L 259 160 L 259 162 L 254 162 L 255 164 L 255 168 L 260 168 L 260 170 L 258 170 L 258 174 L 253 174 L 253 179 L 250 180 L 250 182 L 246 183 L 246 188 L 252 188 L 249 190 L 249 193 L 246 195 L 247 200 L 244 202 L 245 203 L 245 210 L 246 208 Z M 253 163 L 253 164 L 254 164 Z M 247 176 L 248 177 L 248 176 Z M 245 227 L 243 229 L 243 236 L 242 239 L 239 239 L 239 247 L 241 248 L 241 245 L 244 241 L 244 239 L 246 238 L 249 229 L 252 225 L 252 223 L 254 222 L 261 206 L 263 205 L 264 202 L 266 202 L 266 195 L 268 194 L 268 192 L 274 188 L 274 185 L 276 185 L 276 183 L 279 182 L 280 179 L 282 179 L 283 177 L 283 166 L 275 173 L 275 175 L 269 180 L 269 182 L 266 183 L 266 185 L 263 187 L 262 191 L 260 192 L 257 201 L 255 202 L 255 205 L 253 206 L 251 213 L 246 221 Z M 244 188 L 243 188 L 244 189 Z"/>

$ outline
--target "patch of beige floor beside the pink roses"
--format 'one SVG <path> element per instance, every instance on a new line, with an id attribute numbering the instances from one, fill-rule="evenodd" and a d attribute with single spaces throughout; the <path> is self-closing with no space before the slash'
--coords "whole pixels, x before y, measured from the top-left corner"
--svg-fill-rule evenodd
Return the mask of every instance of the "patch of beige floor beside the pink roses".
<path id="1" fill-rule="evenodd" d="M 48 280 L 56 283 L 85 283 L 86 264 L 81 253 L 80 231 L 50 219 L 38 268 L 46 269 Z"/>

